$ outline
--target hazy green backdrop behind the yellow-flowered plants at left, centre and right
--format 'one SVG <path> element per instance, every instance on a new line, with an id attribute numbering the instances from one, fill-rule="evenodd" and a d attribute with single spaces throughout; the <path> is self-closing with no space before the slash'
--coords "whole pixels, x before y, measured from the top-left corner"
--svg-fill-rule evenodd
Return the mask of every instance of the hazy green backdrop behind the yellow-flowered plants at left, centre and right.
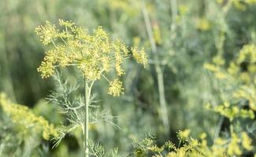
<path id="1" fill-rule="evenodd" d="M 121 156 L 132 150 L 132 141 L 154 133 L 158 144 L 178 142 L 178 130 L 214 136 L 220 115 L 205 109 L 218 102 L 216 80 L 203 68 L 216 55 L 229 62 L 239 49 L 256 40 L 256 5 L 231 0 L 0 0 L 0 91 L 10 100 L 31 108 L 58 126 L 58 107 L 47 104 L 53 79 L 41 79 L 37 68 L 45 47 L 34 29 L 48 20 L 72 20 L 93 30 L 102 26 L 112 38 L 128 46 L 143 46 L 149 65 L 124 64 L 125 92 L 113 99 L 106 82 L 97 82 L 94 93 L 102 109 L 113 116 L 119 129 L 106 123 L 90 128 L 91 138 Z M 66 77 L 72 73 L 63 71 Z M 1 123 L 0 123 L 0 126 Z M 43 141 L 39 149 L 52 156 L 80 154 L 79 139 L 65 137 L 58 148 Z"/>

